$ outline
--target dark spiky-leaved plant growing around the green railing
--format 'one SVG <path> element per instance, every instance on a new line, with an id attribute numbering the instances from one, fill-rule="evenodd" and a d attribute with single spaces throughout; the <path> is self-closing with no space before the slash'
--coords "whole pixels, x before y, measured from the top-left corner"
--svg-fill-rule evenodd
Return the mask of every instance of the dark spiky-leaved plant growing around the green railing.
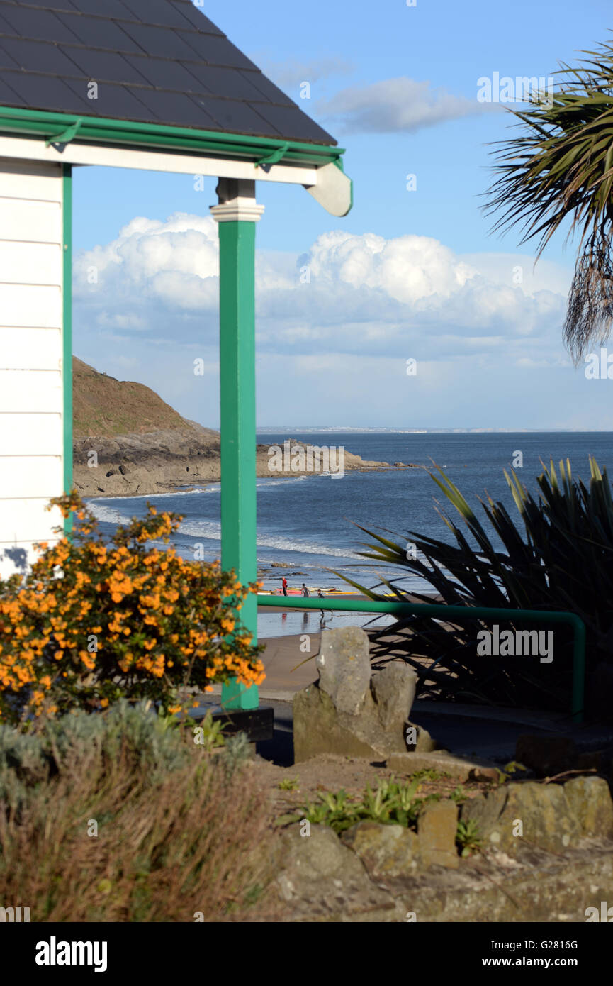
<path id="1" fill-rule="evenodd" d="M 438 468 L 438 467 L 437 467 Z M 543 465 L 534 496 L 516 474 L 505 471 L 518 511 L 515 525 L 502 502 L 480 501 L 486 527 L 458 488 L 438 468 L 430 472 L 447 504 L 459 515 L 460 525 L 440 511 L 451 539 L 440 540 L 409 531 L 398 540 L 360 528 L 371 538 L 359 553 L 402 571 L 398 579 L 382 580 L 368 588 L 345 577 L 370 599 L 385 599 L 392 592 L 398 601 L 518 609 L 572 610 L 586 627 L 587 678 L 599 665 L 613 662 L 613 498 L 606 469 L 600 472 L 589 458 L 586 485 L 575 479 L 571 463 L 558 470 Z M 559 473 L 559 476 L 558 476 Z M 523 531 L 521 531 L 523 527 Z M 384 531 L 383 533 L 388 533 Z M 407 558 L 406 543 L 417 547 Z M 402 589 L 407 574 L 418 575 L 431 587 L 420 594 Z M 468 610 L 469 613 L 469 610 Z M 503 621 L 497 621 L 503 628 Z M 526 629 L 512 619 L 505 629 Z M 528 629 L 534 628 L 530 624 Z M 478 701 L 519 707 L 568 711 L 571 695 L 571 631 L 555 629 L 552 664 L 534 657 L 484 658 L 477 654 L 477 632 L 492 629 L 478 618 L 441 621 L 441 617 L 407 616 L 372 633 L 375 667 L 402 657 L 420 678 L 420 693 L 457 701 Z M 538 629 L 551 629 L 543 624 Z"/>

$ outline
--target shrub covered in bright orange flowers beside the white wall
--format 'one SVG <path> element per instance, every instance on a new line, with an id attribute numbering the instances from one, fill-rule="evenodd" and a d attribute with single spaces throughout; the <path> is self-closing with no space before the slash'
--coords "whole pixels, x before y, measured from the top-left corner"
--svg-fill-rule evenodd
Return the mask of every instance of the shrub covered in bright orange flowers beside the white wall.
<path id="1" fill-rule="evenodd" d="M 25 576 L 0 580 L 0 721 L 149 698 L 165 712 L 193 705 L 187 689 L 264 677 L 260 648 L 239 623 L 255 584 L 242 586 L 218 561 L 185 561 L 169 541 L 182 518 L 158 515 L 117 528 L 105 541 L 75 492 L 58 497 L 74 533 L 49 546 Z M 61 528 L 55 528 L 61 533 Z"/>

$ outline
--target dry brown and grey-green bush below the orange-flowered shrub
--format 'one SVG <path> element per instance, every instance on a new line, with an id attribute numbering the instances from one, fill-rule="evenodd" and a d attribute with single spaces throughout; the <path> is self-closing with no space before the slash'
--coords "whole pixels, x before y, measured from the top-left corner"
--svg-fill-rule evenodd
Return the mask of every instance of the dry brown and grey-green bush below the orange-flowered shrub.
<path id="1" fill-rule="evenodd" d="M 233 740 L 212 755 L 126 702 L 36 736 L 0 727 L 0 900 L 33 921 L 261 915 L 274 833 Z"/>

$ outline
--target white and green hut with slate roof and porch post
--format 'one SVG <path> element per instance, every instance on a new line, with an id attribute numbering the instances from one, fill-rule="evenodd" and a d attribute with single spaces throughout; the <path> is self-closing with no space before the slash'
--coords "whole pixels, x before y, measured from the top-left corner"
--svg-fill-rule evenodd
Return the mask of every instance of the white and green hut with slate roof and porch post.
<path id="1" fill-rule="evenodd" d="M 72 486 L 71 222 L 77 167 L 218 178 L 222 565 L 256 577 L 257 181 L 344 216 L 336 141 L 196 0 L 0 0 L 0 575 L 24 572 Z M 298 194 L 298 190 L 297 190 Z M 244 622 L 255 631 L 255 599 Z M 237 708 L 254 687 L 226 689 Z"/>

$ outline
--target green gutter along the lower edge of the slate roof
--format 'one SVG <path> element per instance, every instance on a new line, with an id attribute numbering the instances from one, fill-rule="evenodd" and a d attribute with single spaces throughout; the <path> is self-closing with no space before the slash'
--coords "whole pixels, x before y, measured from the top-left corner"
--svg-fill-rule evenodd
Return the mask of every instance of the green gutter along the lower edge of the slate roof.
<path id="1" fill-rule="evenodd" d="M 281 138 L 276 140 L 273 137 L 196 130 L 192 127 L 135 123 L 77 113 L 53 113 L 0 106 L 0 133 L 6 131 L 40 135 L 46 139 L 47 144 L 68 143 L 73 140 L 85 144 L 112 143 L 124 147 L 170 148 L 205 156 L 254 159 L 256 166 L 274 159 L 275 162 L 320 168 L 330 162 L 340 162 L 345 153 L 344 148 L 328 144 L 309 144 Z"/>

